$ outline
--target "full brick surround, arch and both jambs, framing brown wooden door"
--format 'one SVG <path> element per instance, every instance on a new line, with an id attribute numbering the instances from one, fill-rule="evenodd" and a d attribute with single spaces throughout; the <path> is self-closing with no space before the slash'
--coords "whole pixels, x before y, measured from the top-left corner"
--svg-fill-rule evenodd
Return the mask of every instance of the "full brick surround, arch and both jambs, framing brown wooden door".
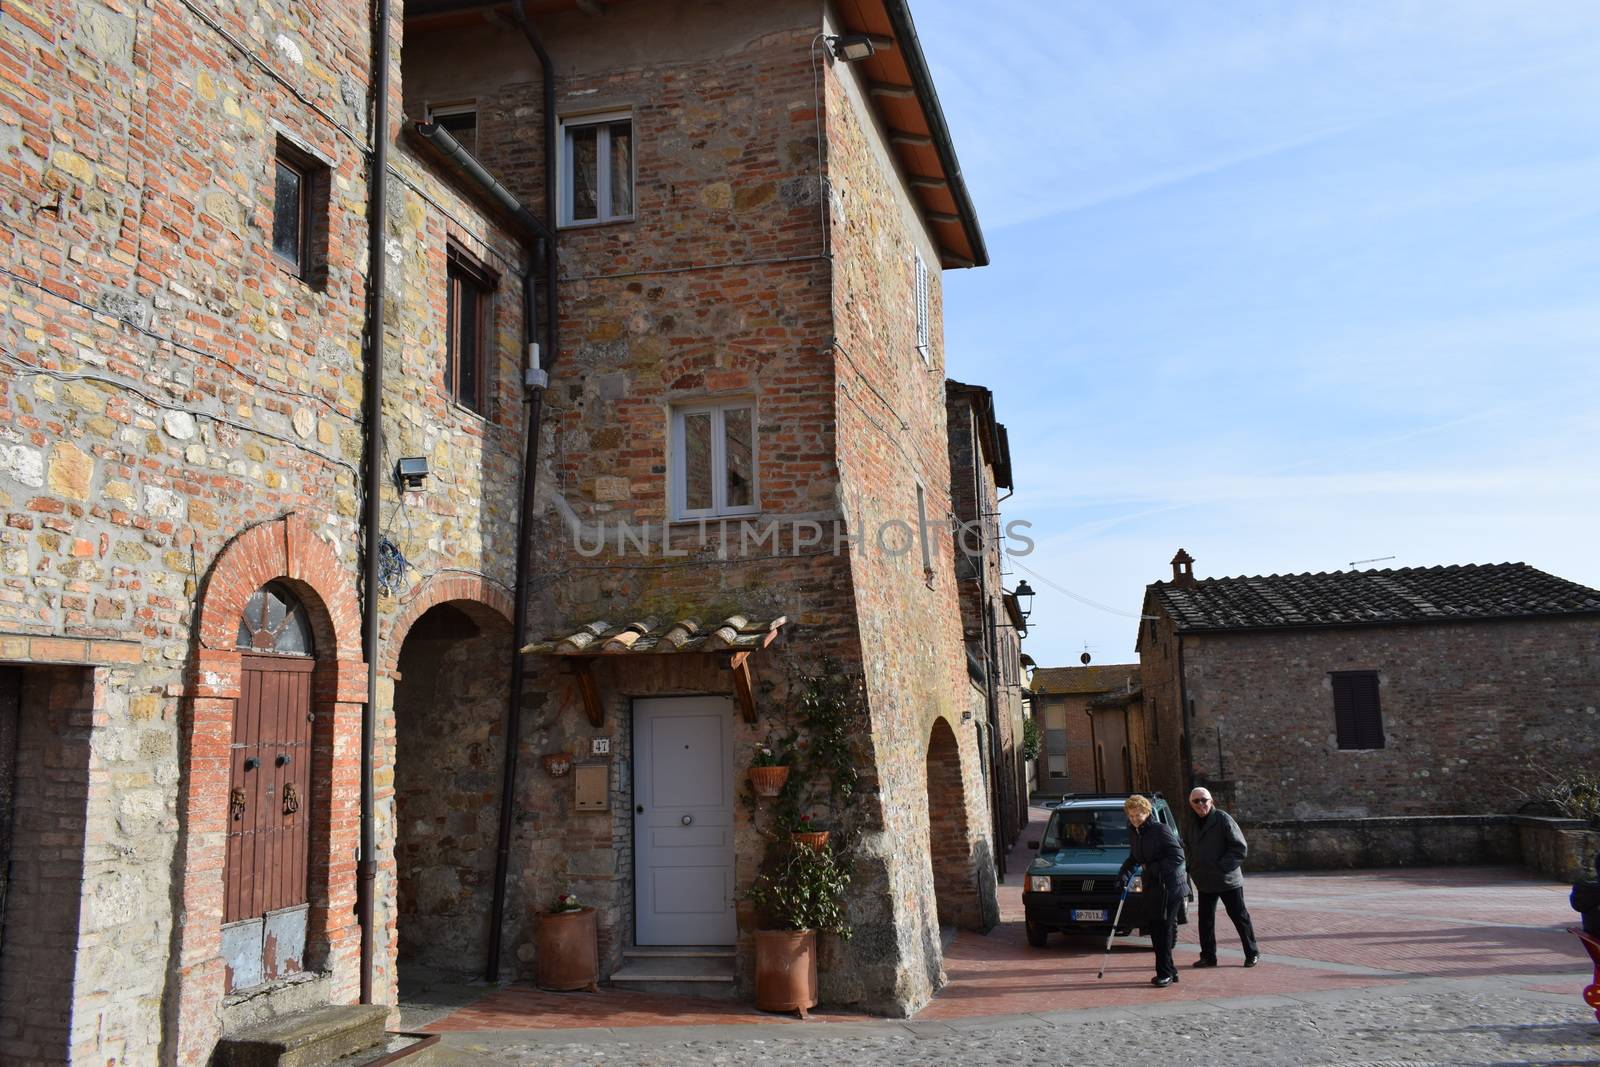
<path id="1" fill-rule="evenodd" d="M 242 531 L 213 561 L 200 590 L 198 624 L 182 721 L 178 862 L 187 921 L 173 960 L 174 1059 L 203 1064 L 222 1032 L 227 989 L 222 958 L 224 872 L 234 713 L 243 656 L 235 646 L 245 603 L 270 581 L 290 585 L 317 643 L 312 677 L 312 854 L 307 966 L 326 971 L 326 1003 L 354 1003 L 360 989 L 355 846 L 360 766 L 334 761 L 360 744 L 366 701 L 362 613 L 350 573 L 301 514 Z"/>

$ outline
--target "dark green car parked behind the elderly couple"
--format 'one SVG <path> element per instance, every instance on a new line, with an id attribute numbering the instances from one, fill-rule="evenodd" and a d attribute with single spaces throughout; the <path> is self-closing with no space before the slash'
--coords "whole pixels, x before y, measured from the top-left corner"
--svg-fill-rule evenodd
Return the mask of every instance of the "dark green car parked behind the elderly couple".
<path id="1" fill-rule="evenodd" d="M 1045 837 L 1029 841 L 1038 856 L 1022 877 L 1022 912 L 1027 944 L 1042 947 L 1051 931 L 1062 934 L 1106 933 L 1117 913 L 1117 872 L 1128 859 L 1128 814 L 1122 803 L 1131 793 L 1069 793 L 1045 824 Z M 1178 830 L 1178 819 L 1160 793 L 1146 793 L 1152 817 Z M 1149 933 L 1150 905 L 1144 878 L 1134 877 L 1117 933 Z"/>

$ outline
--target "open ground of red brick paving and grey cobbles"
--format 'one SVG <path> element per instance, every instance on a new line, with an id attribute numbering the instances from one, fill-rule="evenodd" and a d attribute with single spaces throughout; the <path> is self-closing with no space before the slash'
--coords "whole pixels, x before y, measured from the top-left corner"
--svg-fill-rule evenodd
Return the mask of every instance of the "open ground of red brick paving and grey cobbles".
<path id="1" fill-rule="evenodd" d="M 1566 891 L 1523 870 L 1250 875 L 1245 893 L 1262 963 L 1238 966 L 1232 925 L 1219 913 L 1222 966 L 1189 968 L 1197 955 L 1192 917 L 1178 949 L 1182 981 L 1155 990 L 1146 939 L 1118 939 L 1104 979 L 1096 979 L 1099 939 L 1053 936 L 1045 949 L 1027 945 L 1019 886 L 1030 856 L 1019 848 L 1008 857 L 1000 926 L 955 937 L 946 953 L 949 984 L 912 1021 L 821 1013 L 800 1024 L 741 1003 L 514 985 L 485 990 L 429 1029 L 509 1064 L 720 1064 L 754 1054 L 821 1064 L 837 1062 L 840 1048 L 856 1048 L 858 1062 L 877 1049 L 869 1062 L 882 1054 L 883 1062 L 998 1064 L 1064 1048 L 1054 1030 L 1074 1035 L 1074 1062 L 1086 1062 L 1078 1053 L 1090 1049 L 1126 1054 L 1114 1035 L 1134 1032 L 1165 1035 L 1182 1049 L 1168 1061 L 1142 1041 L 1141 1062 L 1600 1064 L 1600 1029 L 1579 1000 L 1587 957 L 1565 933 Z M 1291 1033 L 1299 1038 L 1285 1037 Z M 1195 1054 L 1206 1040 L 1222 1043 L 1214 1059 Z M 1222 1056 L 1222 1046 L 1232 1053 Z M 1010 1049 L 1010 1059 L 995 1049 Z M 1533 1059 L 1523 1057 L 1530 1049 Z"/>

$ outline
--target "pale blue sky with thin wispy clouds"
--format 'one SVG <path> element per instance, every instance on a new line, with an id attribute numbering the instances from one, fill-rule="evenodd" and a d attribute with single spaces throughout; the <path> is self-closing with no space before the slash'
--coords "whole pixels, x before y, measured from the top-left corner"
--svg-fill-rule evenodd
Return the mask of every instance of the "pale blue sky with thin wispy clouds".
<path id="1" fill-rule="evenodd" d="M 914 3 L 994 261 L 947 362 L 1011 434 L 1040 664 L 1133 659 L 1179 545 L 1600 587 L 1600 3 L 973 11 Z"/>

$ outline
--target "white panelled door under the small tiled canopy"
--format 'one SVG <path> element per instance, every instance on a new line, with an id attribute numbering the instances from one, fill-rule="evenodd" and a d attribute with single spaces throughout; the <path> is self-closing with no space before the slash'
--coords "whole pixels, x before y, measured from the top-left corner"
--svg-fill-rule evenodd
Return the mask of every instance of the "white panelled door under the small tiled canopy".
<path id="1" fill-rule="evenodd" d="M 640 945 L 731 945 L 733 702 L 634 701 L 634 891 Z"/>

